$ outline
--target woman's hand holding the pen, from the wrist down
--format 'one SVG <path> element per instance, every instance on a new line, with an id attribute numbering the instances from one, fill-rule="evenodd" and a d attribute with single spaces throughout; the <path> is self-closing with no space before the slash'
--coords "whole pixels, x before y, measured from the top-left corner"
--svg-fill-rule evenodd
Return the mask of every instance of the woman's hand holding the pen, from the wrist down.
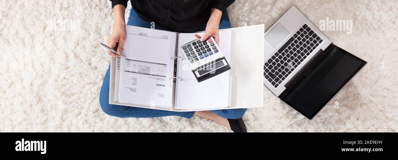
<path id="1" fill-rule="evenodd" d="M 120 57 L 123 51 L 123 45 L 126 41 L 126 35 L 126 25 L 115 23 L 112 34 L 109 36 L 107 43 L 109 47 L 117 51 L 117 54 L 108 51 L 108 55 L 115 58 Z"/>

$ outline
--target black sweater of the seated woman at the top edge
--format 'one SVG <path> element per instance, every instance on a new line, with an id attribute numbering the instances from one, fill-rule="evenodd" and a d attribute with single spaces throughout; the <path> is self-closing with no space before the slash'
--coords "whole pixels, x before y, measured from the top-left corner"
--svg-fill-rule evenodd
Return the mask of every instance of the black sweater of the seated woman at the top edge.
<path id="1" fill-rule="evenodd" d="M 127 7 L 129 0 L 111 0 Z M 235 0 L 131 0 L 138 16 L 147 22 L 155 22 L 170 31 L 191 33 L 207 23 L 211 8 L 222 12 Z"/>

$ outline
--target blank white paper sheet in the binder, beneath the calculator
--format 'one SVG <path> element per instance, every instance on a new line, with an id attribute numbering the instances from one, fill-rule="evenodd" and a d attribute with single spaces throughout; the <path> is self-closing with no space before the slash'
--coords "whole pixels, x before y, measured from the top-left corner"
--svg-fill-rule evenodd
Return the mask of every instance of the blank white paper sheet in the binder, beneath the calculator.
<path id="1" fill-rule="evenodd" d="M 197 39 L 197 33 L 180 33 L 178 35 L 178 47 Z M 203 33 L 202 33 L 203 34 Z M 199 35 L 202 35 L 199 34 Z M 220 31 L 220 50 L 225 59 L 230 60 L 231 31 Z M 178 56 L 183 57 L 178 50 Z M 176 82 L 176 109 L 200 109 L 228 107 L 230 95 L 230 71 L 223 72 L 203 82 L 197 82 L 185 60 L 178 60 L 177 76 L 183 80 Z"/>

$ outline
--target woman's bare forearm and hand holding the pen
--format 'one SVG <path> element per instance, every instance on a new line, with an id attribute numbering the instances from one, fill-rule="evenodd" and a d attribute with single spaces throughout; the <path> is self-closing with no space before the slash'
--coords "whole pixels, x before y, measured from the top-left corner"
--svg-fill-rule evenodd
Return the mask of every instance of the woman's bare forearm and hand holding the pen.
<path id="1" fill-rule="evenodd" d="M 107 43 L 112 49 L 117 47 L 117 49 L 115 49 L 117 54 L 108 51 L 108 55 L 117 58 L 122 54 L 123 45 L 127 37 L 126 23 L 124 20 L 125 6 L 118 4 L 113 7 L 113 12 L 115 14 L 115 24 L 113 25 L 113 31 L 111 36 L 109 36 Z"/>

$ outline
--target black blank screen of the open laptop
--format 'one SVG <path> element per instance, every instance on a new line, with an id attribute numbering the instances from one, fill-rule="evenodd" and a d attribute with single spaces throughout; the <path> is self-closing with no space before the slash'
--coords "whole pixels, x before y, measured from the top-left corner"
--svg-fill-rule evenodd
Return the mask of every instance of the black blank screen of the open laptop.
<path id="1" fill-rule="evenodd" d="M 316 64 L 303 68 L 307 71 L 301 74 L 304 76 L 297 78 L 294 86 L 285 90 L 279 98 L 312 119 L 366 63 L 331 45 Z"/>

